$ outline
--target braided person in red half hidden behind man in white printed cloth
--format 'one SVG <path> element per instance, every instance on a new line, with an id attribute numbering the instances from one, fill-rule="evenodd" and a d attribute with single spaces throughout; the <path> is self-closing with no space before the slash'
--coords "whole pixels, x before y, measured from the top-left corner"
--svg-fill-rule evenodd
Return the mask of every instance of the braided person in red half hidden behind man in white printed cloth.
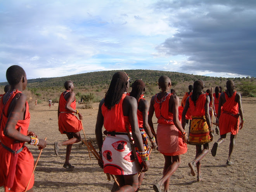
<path id="1" fill-rule="evenodd" d="M 156 138 L 152 134 L 149 123 L 148 123 L 149 102 L 144 98 L 145 86 L 146 85 L 142 80 L 134 81 L 132 84 L 131 93 L 129 93 L 129 95 L 131 97 L 134 97 L 137 100 L 137 103 L 138 103 L 137 115 L 138 115 L 139 129 L 142 135 L 144 149 L 147 150 L 147 153 L 149 154 L 147 135 L 149 136 L 152 149 L 156 148 Z M 138 152 L 138 148 L 135 147 L 135 149 Z M 145 172 L 142 172 L 139 176 L 138 188 L 140 188 L 144 175 L 145 175 Z"/>

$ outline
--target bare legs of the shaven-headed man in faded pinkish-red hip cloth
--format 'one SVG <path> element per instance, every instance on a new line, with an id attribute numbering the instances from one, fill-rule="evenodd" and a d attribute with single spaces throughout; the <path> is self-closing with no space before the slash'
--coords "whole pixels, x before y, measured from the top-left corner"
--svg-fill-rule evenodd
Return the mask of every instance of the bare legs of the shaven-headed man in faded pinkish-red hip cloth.
<path id="1" fill-rule="evenodd" d="M 181 156 L 164 156 L 165 163 L 164 163 L 164 171 L 163 171 L 163 177 L 161 180 L 154 184 L 154 190 L 159 192 L 161 191 L 161 187 L 164 184 L 164 191 L 169 192 L 169 182 L 170 182 L 170 176 L 175 173 L 175 171 L 178 169 L 178 167 L 181 164 Z"/>

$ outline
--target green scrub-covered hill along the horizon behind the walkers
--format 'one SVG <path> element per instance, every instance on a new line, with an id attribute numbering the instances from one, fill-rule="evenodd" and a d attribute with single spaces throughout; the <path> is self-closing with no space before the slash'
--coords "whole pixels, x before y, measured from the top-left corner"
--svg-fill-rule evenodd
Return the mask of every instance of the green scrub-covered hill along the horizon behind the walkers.
<path id="1" fill-rule="evenodd" d="M 206 80 L 225 80 L 225 78 L 213 78 L 208 76 L 199 76 L 193 74 L 185 74 L 170 71 L 154 71 L 154 70 L 124 70 L 131 77 L 132 81 L 142 79 L 145 83 L 153 84 L 158 81 L 161 75 L 167 75 L 170 77 L 172 82 L 183 82 L 183 81 L 195 81 L 197 79 Z M 74 84 L 82 88 L 83 86 L 95 86 L 95 85 L 109 85 L 112 75 L 117 71 L 97 71 L 91 73 L 82 73 L 64 77 L 56 78 L 38 78 L 28 80 L 28 88 L 42 88 L 42 87 L 53 87 L 63 86 L 66 80 L 71 80 Z M 0 85 L 6 85 L 7 82 L 0 83 Z"/>

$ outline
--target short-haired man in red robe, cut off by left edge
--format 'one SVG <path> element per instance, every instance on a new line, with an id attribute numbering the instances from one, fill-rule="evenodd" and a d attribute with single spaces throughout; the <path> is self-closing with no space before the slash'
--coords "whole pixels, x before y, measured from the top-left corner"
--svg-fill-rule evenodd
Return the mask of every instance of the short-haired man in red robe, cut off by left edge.
<path id="1" fill-rule="evenodd" d="M 28 82 L 25 71 L 20 66 L 10 66 L 6 78 L 10 90 L 0 99 L 0 186 L 4 186 L 5 192 L 23 192 L 31 178 L 28 192 L 33 192 L 34 159 L 24 143 L 43 149 L 47 142 L 28 131 L 28 102 L 26 95 L 19 91 L 24 90 Z"/>

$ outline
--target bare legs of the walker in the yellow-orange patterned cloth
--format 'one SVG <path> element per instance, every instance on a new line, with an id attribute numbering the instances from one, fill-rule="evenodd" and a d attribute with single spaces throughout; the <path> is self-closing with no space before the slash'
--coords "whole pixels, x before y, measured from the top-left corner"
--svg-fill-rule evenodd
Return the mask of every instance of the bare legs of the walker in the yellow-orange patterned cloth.
<path id="1" fill-rule="evenodd" d="M 204 144 L 204 149 L 202 150 L 202 145 L 195 145 L 196 146 L 196 156 L 194 161 L 189 163 L 189 167 L 191 170 L 191 174 L 195 176 L 195 165 L 197 165 L 197 179 L 198 181 L 201 181 L 201 162 L 200 160 L 206 156 L 206 154 L 209 151 L 209 144 Z M 199 162 L 199 163 L 198 163 Z"/>

